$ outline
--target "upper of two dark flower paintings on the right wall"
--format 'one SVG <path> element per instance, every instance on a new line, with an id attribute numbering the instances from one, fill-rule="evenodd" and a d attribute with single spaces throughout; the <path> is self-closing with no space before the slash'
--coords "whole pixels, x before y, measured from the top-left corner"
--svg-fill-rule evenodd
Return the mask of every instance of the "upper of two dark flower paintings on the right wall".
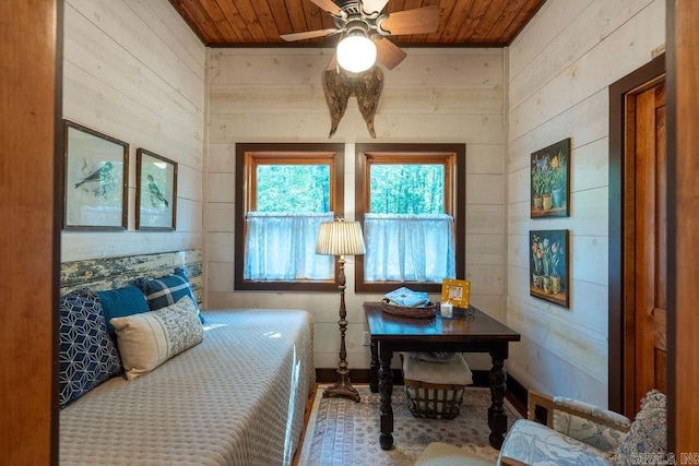
<path id="1" fill-rule="evenodd" d="M 532 153 L 531 217 L 568 217 L 570 138 Z"/>

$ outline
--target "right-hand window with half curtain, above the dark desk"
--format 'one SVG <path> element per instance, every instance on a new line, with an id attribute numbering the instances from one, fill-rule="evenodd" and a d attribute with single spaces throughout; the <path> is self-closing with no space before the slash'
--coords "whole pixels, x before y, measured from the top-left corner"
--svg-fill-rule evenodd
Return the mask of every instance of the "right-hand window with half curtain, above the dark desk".
<path id="1" fill-rule="evenodd" d="M 439 292 L 463 278 L 465 146 L 357 144 L 356 206 L 367 252 L 355 287 Z"/>

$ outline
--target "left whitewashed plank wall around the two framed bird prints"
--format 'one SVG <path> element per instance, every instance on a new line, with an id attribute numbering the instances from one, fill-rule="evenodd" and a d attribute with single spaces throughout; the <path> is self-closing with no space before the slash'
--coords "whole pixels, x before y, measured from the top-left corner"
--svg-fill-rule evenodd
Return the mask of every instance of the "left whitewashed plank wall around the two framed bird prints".
<path id="1" fill-rule="evenodd" d="M 129 143 L 127 231 L 64 231 L 61 261 L 201 249 L 206 49 L 167 0 L 67 0 L 63 116 Z M 178 163 L 177 229 L 135 230 L 135 151 Z"/>

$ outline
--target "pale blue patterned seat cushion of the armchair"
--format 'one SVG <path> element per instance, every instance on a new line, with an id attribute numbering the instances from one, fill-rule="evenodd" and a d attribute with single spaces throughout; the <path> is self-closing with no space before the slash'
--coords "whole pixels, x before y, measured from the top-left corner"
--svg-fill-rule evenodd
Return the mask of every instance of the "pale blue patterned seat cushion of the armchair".
<path id="1" fill-rule="evenodd" d="M 528 419 L 512 425 L 502 443 L 498 465 L 502 458 L 547 466 L 612 464 L 612 455 Z"/>

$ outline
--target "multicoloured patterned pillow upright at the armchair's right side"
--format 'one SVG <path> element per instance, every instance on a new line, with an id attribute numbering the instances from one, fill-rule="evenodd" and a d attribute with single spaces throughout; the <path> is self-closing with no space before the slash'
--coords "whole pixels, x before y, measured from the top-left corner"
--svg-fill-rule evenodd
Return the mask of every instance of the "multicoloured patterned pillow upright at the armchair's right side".
<path id="1" fill-rule="evenodd" d="M 614 457 L 616 464 L 631 464 L 638 454 L 665 459 L 667 456 L 667 401 L 657 390 L 641 399 L 641 410 Z"/>

